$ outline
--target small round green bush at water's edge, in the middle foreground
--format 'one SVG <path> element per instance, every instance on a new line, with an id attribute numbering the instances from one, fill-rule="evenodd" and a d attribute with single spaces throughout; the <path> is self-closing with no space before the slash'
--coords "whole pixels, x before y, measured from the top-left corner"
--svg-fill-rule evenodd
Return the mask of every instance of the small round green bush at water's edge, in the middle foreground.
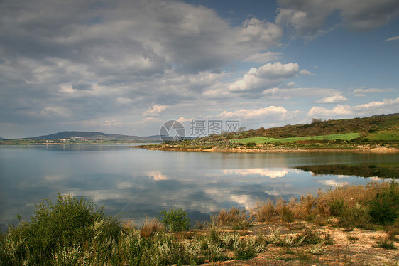
<path id="1" fill-rule="evenodd" d="M 166 230 L 180 232 L 190 229 L 190 218 L 187 217 L 187 211 L 182 208 L 170 208 L 170 211 L 161 211 L 158 220 L 165 226 Z"/>

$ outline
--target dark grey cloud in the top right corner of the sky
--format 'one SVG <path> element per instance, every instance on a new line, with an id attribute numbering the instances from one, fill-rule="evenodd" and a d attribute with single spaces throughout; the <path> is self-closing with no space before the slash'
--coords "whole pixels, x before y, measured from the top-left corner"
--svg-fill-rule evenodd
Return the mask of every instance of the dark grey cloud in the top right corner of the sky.
<path id="1" fill-rule="evenodd" d="M 326 23 L 335 11 L 341 15 L 342 24 L 355 31 L 381 27 L 399 14 L 397 0 L 279 0 L 278 4 L 280 9 L 275 22 L 287 27 L 293 36 L 307 39 L 341 26 L 339 21 L 334 25 Z"/>

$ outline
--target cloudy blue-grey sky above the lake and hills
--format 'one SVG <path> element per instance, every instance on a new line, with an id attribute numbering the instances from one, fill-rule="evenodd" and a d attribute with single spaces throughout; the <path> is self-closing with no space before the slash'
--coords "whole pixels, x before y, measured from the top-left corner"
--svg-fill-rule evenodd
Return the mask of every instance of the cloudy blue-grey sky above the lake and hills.
<path id="1" fill-rule="evenodd" d="M 0 1 L 0 137 L 399 110 L 398 0 Z"/>

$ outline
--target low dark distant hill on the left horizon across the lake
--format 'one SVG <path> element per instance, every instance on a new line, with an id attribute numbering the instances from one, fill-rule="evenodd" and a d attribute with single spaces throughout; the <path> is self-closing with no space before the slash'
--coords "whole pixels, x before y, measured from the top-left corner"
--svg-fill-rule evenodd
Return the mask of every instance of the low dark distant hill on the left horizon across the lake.
<path id="1" fill-rule="evenodd" d="M 138 136 L 129 136 L 129 135 L 121 135 L 121 134 L 106 134 L 102 132 L 84 132 L 84 131 L 63 131 L 49 135 L 43 135 L 38 137 L 33 137 L 31 139 L 89 139 L 89 140 L 129 140 L 129 141 L 137 141 L 137 140 L 154 140 L 149 137 L 138 137 Z"/>

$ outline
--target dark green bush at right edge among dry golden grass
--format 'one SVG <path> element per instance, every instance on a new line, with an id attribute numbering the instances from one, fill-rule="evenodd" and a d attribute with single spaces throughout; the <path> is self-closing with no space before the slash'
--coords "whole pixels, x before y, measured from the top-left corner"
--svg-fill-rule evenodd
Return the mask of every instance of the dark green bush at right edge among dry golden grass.
<path id="1" fill-rule="evenodd" d="M 392 181 L 388 188 L 383 188 L 369 202 L 370 216 L 373 223 L 392 225 L 399 217 L 399 186 Z"/>

